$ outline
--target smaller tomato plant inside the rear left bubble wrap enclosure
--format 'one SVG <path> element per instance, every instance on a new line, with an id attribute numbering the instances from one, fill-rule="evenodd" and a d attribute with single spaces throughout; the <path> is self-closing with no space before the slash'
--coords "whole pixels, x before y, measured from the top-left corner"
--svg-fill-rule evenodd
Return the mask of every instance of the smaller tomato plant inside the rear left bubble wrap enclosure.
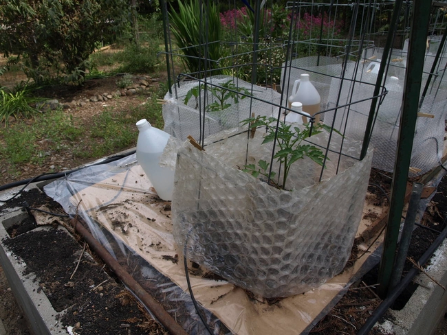
<path id="1" fill-rule="evenodd" d="M 184 104 L 188 104 L 191 97 L 195 97 L 195 108 L 197 108 L 197 97 L 199 97 L 199 92 L 203 90 L 204 87 L 205 85 L 199 84 L 190 89 L 186 93 Z M 214 100 L 211 104 L 208 104 L 206 106 L 207 112 L 223 111 L 224 109 L 231 106 L 231 100 L 234 104 L 237 104 L 239 102 L 239 99 L 245 99 L 246 95 L 251 95 L 248 89 L 236 86 L 235 83 L 232 82 L 232 80 L 224 82 L 223 84 L 221 84 L 221 86 L 206 85 L 206 89 L 211 93 L 212 100 Z M 244 93 L 245 95 L 241 95 L 239 97 L 238 92 Z"/>

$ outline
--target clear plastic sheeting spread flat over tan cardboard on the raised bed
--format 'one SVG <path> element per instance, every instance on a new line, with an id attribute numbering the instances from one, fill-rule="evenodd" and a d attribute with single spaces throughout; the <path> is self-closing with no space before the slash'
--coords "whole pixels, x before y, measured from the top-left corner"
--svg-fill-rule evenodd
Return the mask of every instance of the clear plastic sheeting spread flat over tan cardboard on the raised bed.
<path id="1" fill-rule="evenodd" d="M 67 213 L 83 216 L 96 238 L 188 334 L 205 334 L 186 293 L 182 253 L 172 234 L 171 203 L 157 198 L 135 155 L 87 167 L 45 186 L 45 192 Z M 364 227 L 362 222 L 360 229 Z M 376 242 L 370 251 L 379 244 Z M 363 244 L 359 247 L 367 248 Z M 206 268 L 188 264 L 193 292 L 215 334 L 267 335 L 312 330 L 349 285 L 378 260 L 376 253 L 367 253 L 326 284 L 274 304 L 227 281 L 204 279 Z"/>

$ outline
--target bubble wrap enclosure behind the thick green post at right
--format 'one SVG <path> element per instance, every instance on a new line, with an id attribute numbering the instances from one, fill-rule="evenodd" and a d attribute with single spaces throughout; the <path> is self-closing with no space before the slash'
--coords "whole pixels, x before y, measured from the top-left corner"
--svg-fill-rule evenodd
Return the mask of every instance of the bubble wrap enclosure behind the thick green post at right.
<path id="1" fill-rule="evenodd" d="M 353 72 L 353 67 L 348 71 Z M 360 75 L 358 75 L 360 77 Z M 374 73 L 362 73 L 361 80 L 375 82 Z M 422 89 L 426 78 L 423 78 Z M 439 84 L 439 83 L 438 83 Z M 400 113 L 402 111 L 402 94 L 404 80 L 387 78 L 385 87 L 388 93 L 384 96 L 378 109 L 377 119 L 371 135 L 371 145 L 374 148 L 373 167 L 380 170 L 393 172 L 395 154 L 397 150 L 397 138 L 399 135 Z M 411 175 L 424 174 L 431 170 L 442 157 L 444 141 L 444 121 L 446 119 L 447 104 L 446 91 L 441 89 L 431 90 L 432 94 L 424 99 L 419 112 L 433 115 L 430 117 L 418 117 L 415 137 L 413 140 L 413 152 L 411 167 L 415 168 Z M 341 91 L 341 92 L 340 92 Z M 338 108 L 337 111 L 325 113 L 325 124 L 334 125 L 334 128 L 344 130 L 347 137 L 362 141 L 367 126 L 371 100 L 360 102 L 366 97 L 373 96 L 374 87 L 358 82 L 344 82 L 340 90 L 340 79 L 333 78 L 329 91 L 328 108 L 349 104 L 350 106 Z M 428 91 L 430 93 L 430 90 Z M 338 95 L 340 98 L 338 100 Z M 334 120 L 335 117 L 335 120 Z"/>

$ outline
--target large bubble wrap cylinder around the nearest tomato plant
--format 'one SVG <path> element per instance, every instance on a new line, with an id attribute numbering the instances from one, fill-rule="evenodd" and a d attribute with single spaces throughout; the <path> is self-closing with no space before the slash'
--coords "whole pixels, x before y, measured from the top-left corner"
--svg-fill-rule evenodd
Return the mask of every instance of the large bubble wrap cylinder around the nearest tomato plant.
<path id="1" fill-rule="evenodd" d="M 210 147 L 185 143 L 177 154 L 174 238 L 186 242 L 188 259 L 268 298 L 340 273 L 361 220 L 372 152 L 321 183 L 283 191 L 212 157 Z"/>

